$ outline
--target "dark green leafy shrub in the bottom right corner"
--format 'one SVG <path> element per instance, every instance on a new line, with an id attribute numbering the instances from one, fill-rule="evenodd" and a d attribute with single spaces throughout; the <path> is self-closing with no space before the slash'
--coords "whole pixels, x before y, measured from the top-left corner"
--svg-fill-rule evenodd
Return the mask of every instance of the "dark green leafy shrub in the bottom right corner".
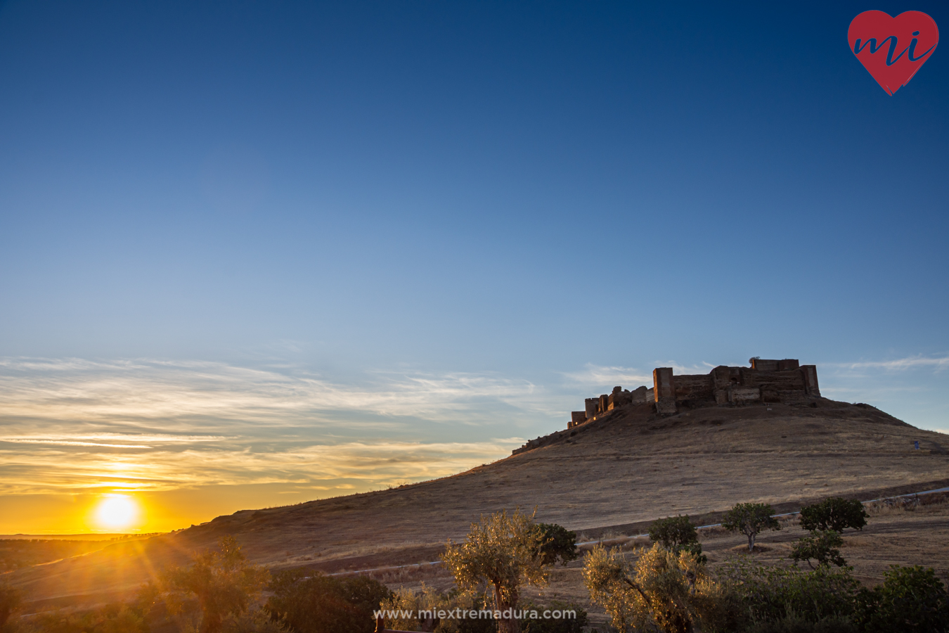
<path id="1" fill-rule="evenodd" d="M 866 633 L 949 630 L 949 596 L 932 568 L 892 566 L 884 583 L 857 598 L 857 621 Z"/>

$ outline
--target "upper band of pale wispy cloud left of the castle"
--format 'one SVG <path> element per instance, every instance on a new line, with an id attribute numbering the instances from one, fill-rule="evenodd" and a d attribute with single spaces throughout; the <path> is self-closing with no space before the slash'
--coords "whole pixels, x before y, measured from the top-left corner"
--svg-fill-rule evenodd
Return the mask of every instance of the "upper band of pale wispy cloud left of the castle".
<path id="1" fill-rule="evenodd" d="M 181 417 L 233 419 L 255 425 L 320 419 L 321 412 L 360 411 L 381 417 L 473 419 L 496 400 L 530 410 L 535 386 L 464 373 L 370 376 L 342 385 L 304 372 L 224 363 L 89 362 L 76 359 L 0 361 L 0 413 L 72 421 L 137 423 Z"/>

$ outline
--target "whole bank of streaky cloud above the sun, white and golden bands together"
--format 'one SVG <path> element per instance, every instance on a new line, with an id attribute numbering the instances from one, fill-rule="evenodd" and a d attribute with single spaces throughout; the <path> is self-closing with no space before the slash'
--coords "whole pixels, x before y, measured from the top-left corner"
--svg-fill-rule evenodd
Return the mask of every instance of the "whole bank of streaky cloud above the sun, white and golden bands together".
<path id="1" fill-rule="evenodd" d="M 530 382 L 473 374 L 344 385 L 225 363 L 3 359 L 0 494 L 326 491 L 451 475 L 523 441 L 450 441 L 457 423 L 545 417 L 545 401 Z"/>

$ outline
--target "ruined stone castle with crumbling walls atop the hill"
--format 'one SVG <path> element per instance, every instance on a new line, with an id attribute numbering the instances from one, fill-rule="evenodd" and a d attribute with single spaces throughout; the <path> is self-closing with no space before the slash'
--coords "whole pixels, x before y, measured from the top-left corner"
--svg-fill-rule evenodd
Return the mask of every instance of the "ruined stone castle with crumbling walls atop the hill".
<path id="1" fill-rule="evenodd" d="M 751 359 L 751 367 L 719 365 L 708 374 L 673 375 L 672 367 L 653 369 L 653 386 L 627 391 L 613 387 L 613 393 L 587 398 L 584 411 L 570 412 L 567 428 L 602 418 L 626 404 L 652 404 L 656 413 L 670 416 L 680 404 L 736 405 L 754 402 L 807 403 L 820 398 L 817 366 L 796 359 L 781 361 Z"/>

